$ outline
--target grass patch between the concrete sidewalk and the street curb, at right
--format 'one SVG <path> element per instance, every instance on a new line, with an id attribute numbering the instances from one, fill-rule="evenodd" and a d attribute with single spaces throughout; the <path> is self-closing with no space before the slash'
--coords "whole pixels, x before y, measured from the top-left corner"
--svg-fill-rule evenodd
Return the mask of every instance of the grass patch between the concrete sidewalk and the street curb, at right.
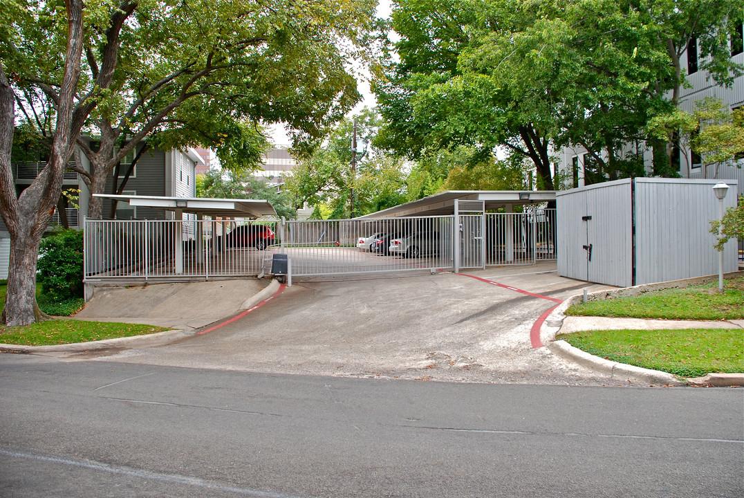
<path id="1" fill-rule="evenodd" d="M 682 377 L 744 371 L 741 329 L 587 331 L 560 334 L 557 339 L 606 360 Z"/>

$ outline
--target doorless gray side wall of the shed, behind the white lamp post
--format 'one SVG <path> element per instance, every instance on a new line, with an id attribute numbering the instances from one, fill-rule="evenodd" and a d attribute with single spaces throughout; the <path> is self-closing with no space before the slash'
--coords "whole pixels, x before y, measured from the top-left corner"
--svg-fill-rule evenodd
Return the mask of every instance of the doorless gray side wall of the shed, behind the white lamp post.
<path id="1" fill-rule="evenodd" d="M 713 194 L 717 180 L 639 178 L 635 186 L 636 284 L 718 273 L 711 220 L 719 217 Z M 724 209 L 736 205 L 730 180 Z M 724 271 L 737 270 L 737 241 L 724 248 Z"/>

